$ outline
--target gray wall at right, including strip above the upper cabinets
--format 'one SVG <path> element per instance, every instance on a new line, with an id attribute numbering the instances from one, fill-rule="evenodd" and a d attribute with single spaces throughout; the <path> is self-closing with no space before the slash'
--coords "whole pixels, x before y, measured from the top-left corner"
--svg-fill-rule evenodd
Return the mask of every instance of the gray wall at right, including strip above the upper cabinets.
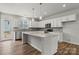
<path id="1" fill-rule="evenodd" d="M 79 9 L 63 12 L 63 13 L 51 16 L 47 19 L 61 17 L 64 15 L 69 15 L 73 13 L 77 14 L 76 21 L 63 23 L 63 40 L 73 44 L 79 44 Z"/>

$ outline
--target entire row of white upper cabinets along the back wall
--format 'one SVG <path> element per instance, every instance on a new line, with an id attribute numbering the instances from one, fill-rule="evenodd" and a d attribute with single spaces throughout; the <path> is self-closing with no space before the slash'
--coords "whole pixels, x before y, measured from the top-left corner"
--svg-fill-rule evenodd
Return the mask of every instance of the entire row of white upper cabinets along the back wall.
<path id="1" fill-rule="evenodd" d="M 69 22 L 69 21 L 75 21 L 76 20 L 76 14 L 62 16 L 59 18 L 53 18 L 48 20 L 43 20 L 39 22 L 32 22 L 32 27 L 37 28 L 45 28 L 45 24 L 51 23 L 51 27 L 63 27 L 63 22 Z"/>

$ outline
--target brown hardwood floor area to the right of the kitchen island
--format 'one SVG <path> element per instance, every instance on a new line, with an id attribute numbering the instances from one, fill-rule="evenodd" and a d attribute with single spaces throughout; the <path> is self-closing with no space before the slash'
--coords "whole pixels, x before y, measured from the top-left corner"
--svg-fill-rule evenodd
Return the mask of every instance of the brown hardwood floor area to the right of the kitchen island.
<path id="1" fill-rule="evenodd" d="M 79 55 L 79 45 L 61 42 L 56 55 Z"/>

